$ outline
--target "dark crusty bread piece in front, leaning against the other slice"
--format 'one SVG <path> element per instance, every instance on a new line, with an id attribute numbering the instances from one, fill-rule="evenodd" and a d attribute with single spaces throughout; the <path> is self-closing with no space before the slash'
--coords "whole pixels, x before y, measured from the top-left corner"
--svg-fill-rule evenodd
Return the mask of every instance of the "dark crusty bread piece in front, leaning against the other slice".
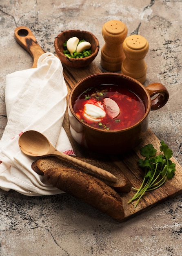
<path id="1" fill-rule="evenodd" d="M 96 209 L 121 221 L 124 218 L 122 200 L 118 193 L 96 177 L 81 171 L 55 167 L 44 172 L 45 179 L 64 192 L 80 198 Z"/>

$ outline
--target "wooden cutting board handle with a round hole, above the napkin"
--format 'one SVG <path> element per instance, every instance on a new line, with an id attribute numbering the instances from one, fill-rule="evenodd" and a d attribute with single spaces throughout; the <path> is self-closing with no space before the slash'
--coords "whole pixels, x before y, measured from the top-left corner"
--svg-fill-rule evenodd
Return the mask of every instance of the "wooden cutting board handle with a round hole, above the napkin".
<path id="1" fill-rule="evenodd" d="M 37 67 L 38 58 L 45 53 L 28 27 L 17 27 L 14 31 L 17 43 L 33 58 L 32 67 Z"/>

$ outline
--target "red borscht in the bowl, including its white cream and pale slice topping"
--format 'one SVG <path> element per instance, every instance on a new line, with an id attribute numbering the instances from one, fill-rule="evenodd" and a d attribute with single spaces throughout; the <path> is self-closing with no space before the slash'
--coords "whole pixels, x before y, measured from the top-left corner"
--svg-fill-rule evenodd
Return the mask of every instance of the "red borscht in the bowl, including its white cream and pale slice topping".
<path id="1" fill-rule="evenodd" d="M 136 124 L 145 114 L 142 100 L 118 85 L 88 88 L 76 99 L 73 110 L 89 126 L 121 130 Z"/>

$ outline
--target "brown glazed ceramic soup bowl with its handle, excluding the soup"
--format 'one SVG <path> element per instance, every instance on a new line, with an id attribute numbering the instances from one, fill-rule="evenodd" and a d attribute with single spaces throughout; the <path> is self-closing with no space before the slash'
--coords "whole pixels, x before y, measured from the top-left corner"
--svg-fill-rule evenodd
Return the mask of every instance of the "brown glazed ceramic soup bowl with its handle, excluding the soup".
<path id="1" fill-rule="evenodd" d="M 73 110 L 75 100 L 91 87 L 114 84 L 138 95 L 144 103 L 143 117 L 131 127 L 121 130 L 100 130 L 81 121 Z M 73 139 L 88 150 L 100 154 L 120 154 L 138 146 L 148 128 L 151 110 L 162 108 L 169 99 L 169 92 L 161 83 L 144 87 L 135 79 L 116 73 L 98 73 L 79 81 L 71 90 L 68 100 L 69 126 Z"/>

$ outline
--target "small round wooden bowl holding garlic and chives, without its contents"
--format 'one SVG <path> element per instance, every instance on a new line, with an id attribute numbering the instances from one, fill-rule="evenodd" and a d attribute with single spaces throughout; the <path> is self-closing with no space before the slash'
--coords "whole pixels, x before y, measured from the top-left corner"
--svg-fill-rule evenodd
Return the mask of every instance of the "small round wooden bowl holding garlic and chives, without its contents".
<path id="1" fill-rule="evenodd" d="M 92 54 L 89 57 L 85 58 L 68 58 L 63 54 L 63 43 L 69 38 L 76 36 L 79 40 L 84 39 L 91 43 Z M 54 40 L 55 53 L 62 63 L 69 67 L 87 67 L 97 56 L 99 51 L 99 42 L 98 39 L 89 31 L 80 31 L 80 30 L 66 30 L 58 34 Z"/>

